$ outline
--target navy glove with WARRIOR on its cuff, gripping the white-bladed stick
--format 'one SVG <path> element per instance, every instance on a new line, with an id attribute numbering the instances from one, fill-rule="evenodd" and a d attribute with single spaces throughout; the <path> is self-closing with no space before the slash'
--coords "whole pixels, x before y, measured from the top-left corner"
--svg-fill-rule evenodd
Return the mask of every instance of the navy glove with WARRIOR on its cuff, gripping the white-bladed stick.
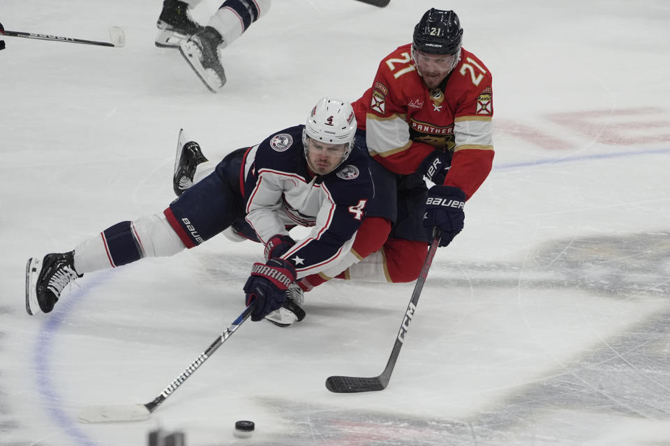
<path id="1" fill-rule="evenodd" d="M 295 282 L 295 277 L 295 268 L 290 261 L 270 259 L 266 263 L 254 263 L 251 276 L 244 284 L 246 305 L 254 302 L 251 320 L 260 321 L 281 307 L 286 300 L 286 290 Z"/>

